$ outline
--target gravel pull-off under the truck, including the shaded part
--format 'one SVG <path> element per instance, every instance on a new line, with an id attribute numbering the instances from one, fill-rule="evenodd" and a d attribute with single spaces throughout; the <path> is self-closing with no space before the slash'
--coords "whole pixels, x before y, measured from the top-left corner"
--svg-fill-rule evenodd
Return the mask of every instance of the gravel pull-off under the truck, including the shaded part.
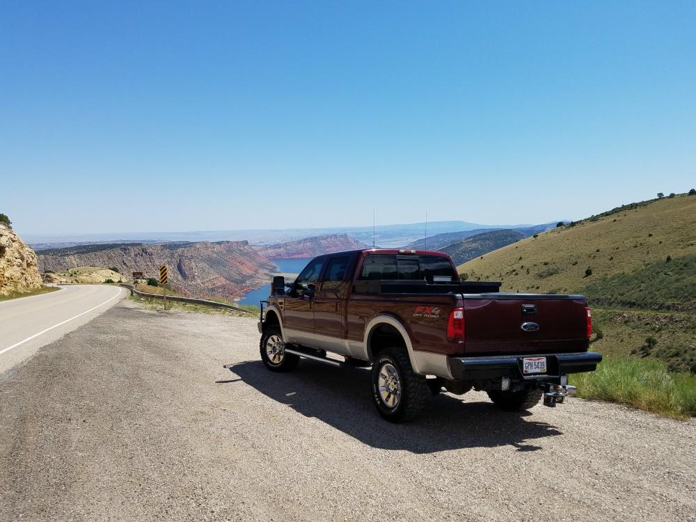
<path id="1" fill-rule="evenodd" d="M 122 301 L 0 377 L 0 521 L 693 521 L 696 422 L 271 374 L 253 319 Z"/>

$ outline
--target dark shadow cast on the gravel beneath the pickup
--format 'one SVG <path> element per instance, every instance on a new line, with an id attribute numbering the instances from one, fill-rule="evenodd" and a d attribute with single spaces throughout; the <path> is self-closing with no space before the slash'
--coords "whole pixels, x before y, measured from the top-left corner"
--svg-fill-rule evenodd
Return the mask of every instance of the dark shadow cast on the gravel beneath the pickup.
<path id="1" fill-rule="evenodd" d="M 445 394 L 434 397 L 416 421 L 392 424 L 374 409 L 370 370 L 340 370 L 310 361 L 301 361 L 296 370 L 280 374 L 269 372 L 261 361 L 228 367 L 267 397 L 373 448 L 432 453 L 513 445 L 518 451 L 535 451 L 542 448 L 530 441 L 562 435 L 555 426 L 532 420 L 533 413 L 510 413 L 490 402 L 461 402 Z M 223 386 L 235 394 L 235 384 Z"/>

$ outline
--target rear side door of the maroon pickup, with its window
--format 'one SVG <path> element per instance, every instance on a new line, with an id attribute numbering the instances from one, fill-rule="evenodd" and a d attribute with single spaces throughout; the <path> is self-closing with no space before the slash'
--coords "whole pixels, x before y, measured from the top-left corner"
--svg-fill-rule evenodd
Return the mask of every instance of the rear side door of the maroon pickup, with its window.
<path id="1" fill-rule="evenodd" d="M 337 354 L 350 355 L 346 338 L 346 293 L 355 256 L 341 254 L 326 260 L 314 301 L 314 331 L 319 347 Z"/>

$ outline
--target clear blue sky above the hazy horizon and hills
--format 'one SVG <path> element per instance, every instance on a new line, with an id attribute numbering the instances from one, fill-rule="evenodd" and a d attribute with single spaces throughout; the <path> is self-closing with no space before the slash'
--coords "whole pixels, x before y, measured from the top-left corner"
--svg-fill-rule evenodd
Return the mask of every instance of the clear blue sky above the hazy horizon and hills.
<path id="1" fill-rule="evenodd" d="M 20 233 L 540 223 L 687 191 L 695 26 L 679 1 L 6 1 L 0 212 Z"/>

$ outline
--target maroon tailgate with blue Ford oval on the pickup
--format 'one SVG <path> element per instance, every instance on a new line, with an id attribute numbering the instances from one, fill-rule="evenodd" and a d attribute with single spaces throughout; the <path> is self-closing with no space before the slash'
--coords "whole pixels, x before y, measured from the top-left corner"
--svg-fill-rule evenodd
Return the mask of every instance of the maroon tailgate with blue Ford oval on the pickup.
<path id="1" fill-rule="evenodd" d="M 587 300 L 580 295 L 464 296 L 468 356 L 585 351 Z"/>

